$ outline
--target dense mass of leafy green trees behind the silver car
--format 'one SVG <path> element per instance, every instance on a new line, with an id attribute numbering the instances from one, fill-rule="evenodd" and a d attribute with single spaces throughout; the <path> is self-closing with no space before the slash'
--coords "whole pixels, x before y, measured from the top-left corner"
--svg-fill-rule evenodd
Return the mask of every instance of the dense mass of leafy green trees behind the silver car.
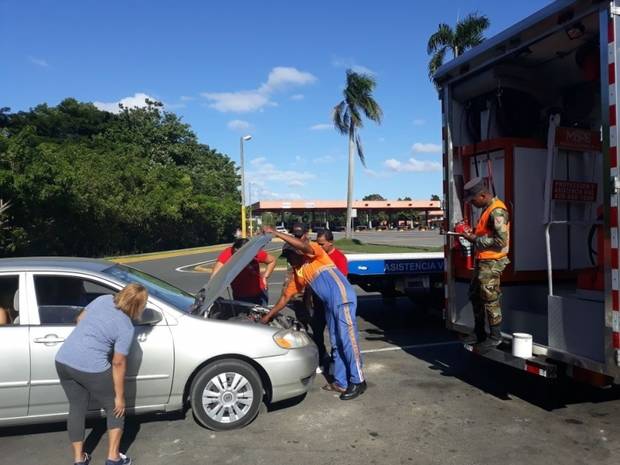
<path id="1" fill-rule="evenodd" d="M 232 237 L 234 163 L 161 104 L 66 99 L 0 118 L 3 255 L 143 252 Z"/>

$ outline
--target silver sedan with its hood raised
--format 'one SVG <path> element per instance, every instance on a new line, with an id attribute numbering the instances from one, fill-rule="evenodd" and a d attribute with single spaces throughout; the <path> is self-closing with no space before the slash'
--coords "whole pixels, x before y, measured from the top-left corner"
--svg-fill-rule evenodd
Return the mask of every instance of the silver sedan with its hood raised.
<path id="1" fill-rule="evenodd" d="M 12 315 L 12 324 L 0 326 L 0 426 L 66 417 L 56 352 L 83 307 L 129 282 L 149 290 L 128 360 L 129 414 L 189 405 L 201 425 L 229 430 L 252 421 L 261 402 L 305 394 L 318 355 L 297 322 L 281 316 L 262 325 L 257 320 L 268 309 L 222 297 L 269 240 L 251 240 L 196 296 L 104 260 L 0 260 L 0 306 Z"/>

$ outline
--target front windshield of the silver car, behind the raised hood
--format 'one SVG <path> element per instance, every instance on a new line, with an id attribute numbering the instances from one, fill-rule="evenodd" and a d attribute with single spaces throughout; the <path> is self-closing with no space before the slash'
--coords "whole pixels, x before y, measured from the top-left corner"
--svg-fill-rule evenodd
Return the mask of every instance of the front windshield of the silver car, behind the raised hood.
<path id="1" fill-rule="evenodd" d="M 123 265 L 114 265 L 103 270 L 103 273 L 115 277 L 125 283 L 142 284 L 153 297 L 168 305 L 188 313 L 194 303 L 194 296 L 150 274 Z"/>

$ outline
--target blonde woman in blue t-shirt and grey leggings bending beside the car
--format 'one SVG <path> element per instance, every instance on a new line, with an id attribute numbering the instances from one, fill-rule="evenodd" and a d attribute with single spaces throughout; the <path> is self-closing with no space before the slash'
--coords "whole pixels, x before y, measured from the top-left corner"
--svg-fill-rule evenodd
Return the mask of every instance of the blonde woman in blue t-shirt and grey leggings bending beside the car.
<path id="1" fill-rule="evenodd" d="M 146 288 L 135 283 L 118 294 L 97 297 L 86 307 L 75 330 L 56 354 L 56 371 L 69 399 L 67 430 L 76 465 L 90 462 L 83 447 L 91 396 L 106 413 L 106 465 L 131 464 L 131 459 L 119 452 L 125 420 L 125 371 L 134 335 L 131 320 L 140 318 L 147 298 Z"/>

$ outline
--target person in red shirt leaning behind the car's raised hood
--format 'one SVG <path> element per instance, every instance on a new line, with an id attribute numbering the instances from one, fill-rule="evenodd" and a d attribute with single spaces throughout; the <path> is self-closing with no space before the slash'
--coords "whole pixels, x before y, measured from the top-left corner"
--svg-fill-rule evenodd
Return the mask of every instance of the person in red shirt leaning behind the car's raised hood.
<path id="1" fill-rule="evenodd" d="M 232 255 L 239 250 L 248 241 L 248 239 L 237 239 L 231 247 L 228 247 L 220 253 L 213 267 L 214 276 L 224 266 Z M 265 263 L 267 268 L 264 273 L 260 271 L 260 264 Z M 243 302 L 250 302 L 257 305 L 267 305 L 269 303 L 269 295 L 267 294 L 267 280 L 276 267 L 276 259 L 273 255 L 261 250 L 256 257 L 246 266 L 241 273 L 233 280 L 230 287 L 233 290 L 233 298 Z"/>

